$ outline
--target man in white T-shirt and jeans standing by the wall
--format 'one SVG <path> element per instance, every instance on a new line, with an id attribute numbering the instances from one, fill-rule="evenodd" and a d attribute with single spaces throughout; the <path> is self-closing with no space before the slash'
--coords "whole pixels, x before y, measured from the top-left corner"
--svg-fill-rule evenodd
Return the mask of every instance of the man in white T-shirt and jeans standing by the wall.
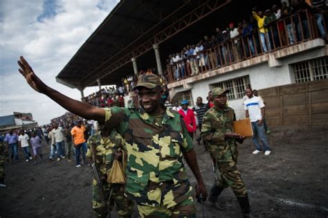
<path id="1" fill-rule="evenodd" d="M 250 88 L 246 89 L 246 95 L 248 99 L 244 101 L 244 109 L 246 111 L 246 118 L 250 118 L 250 122 L 252 122 L 252 140 L 256 148 L 253 154 L 258 154 L 264 150 L 264 154 L 269 155 L 271 149 L 268 147 L 268 140 L 266 139 L 266 132 L 263 125 L 265 114 L 264 103 L 259 97 L 253 95 L 253 91 Z M 263 149 L 259 144 L 259 140 L 262 142 Z"/>

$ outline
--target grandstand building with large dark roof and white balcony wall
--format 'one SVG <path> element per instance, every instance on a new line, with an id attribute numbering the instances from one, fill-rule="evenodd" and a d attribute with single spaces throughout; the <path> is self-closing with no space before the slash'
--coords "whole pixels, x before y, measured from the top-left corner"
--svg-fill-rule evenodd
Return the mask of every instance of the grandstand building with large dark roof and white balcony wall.
<path id="1" fill-rule="evenodd" d="M 230 23 L 237 27 L 244 19 L 249 20 L 255 8 L 264 12 L 275 4 L 280 7 L 283 2 L 289 6 L 284 0 L 120 1 L 56 80 L 79 89 L 83 96 L 85 87 L 120 85 L 122 78 L 154 68 L 165 76 L 170 96 L 175 100 L 187 99 L 193 104 L 198 96 L 206 99 L 214 87 L 230 89 L 229 105 L 235 109 L 237 118 L 242 118 L 242 98 L 247 87 L 268 89 L 327 79 L 327 44 L 309 10 L 295 11 L 268 27 L 270 34 L 266 40 L 271 41 L 268 51 L 264 51 L 257 33 L 253 36 L 255 51 L 247 39 L 239 36 L 204 51 L 208 60 L 199 74 L 185 72 L 179 80 L 174 75 L 179 63 L 172 66 L 168 59 L 186 45 L 197 44 L 205 35 L 216 35 L 218 27 L 225 29 Z M 302 25 L 298 26 L 297 21 Z M 289 23 L 295 24 L 292 33 L 295 42 L 280 31 L 282 28 L 287 32 Z M 279 33 L 277 36 L 275 31 Z M 241 51 L 236 50 L 240 56 L 233 51 L 237 40 L 241 44 Z M 232 55 L 225 56 L 223 48 L 231 50 Z"/>

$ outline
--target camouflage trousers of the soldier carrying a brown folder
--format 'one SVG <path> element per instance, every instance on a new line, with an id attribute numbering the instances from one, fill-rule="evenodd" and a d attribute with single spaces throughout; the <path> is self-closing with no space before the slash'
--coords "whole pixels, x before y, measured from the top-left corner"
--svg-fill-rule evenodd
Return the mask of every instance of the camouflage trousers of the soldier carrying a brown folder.
<path id="1" fill-rule="evenodd" d="M 220 188 L 230 187 L 236 197 L 246 197 L 247 191 L 237 168 L 237 148 L 219 147 L 215 163 L 215 179 Z"/>

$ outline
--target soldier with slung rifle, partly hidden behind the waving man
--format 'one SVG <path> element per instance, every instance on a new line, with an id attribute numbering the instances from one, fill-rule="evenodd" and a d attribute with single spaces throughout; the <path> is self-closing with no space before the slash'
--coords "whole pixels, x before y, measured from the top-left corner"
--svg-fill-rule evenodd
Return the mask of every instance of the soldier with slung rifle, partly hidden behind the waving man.
<path id="1" fill-rule="evenodd" d="M 107 136 L 107 134 L 110 134 Z M 109 202 L 109 211 L 113 208 L 114 203 L 116 204 L 116 212 L 118 217 L 131 217 L 134 209 L 133 201 L 130 201 L 124 195 L 124 184 L 110 184 L 107 183 L 107 176 L 111 172 L 113 160 L 119 150 L 126 151 L 125 140 L 117 133 L 112 130 L 111 133 L 102 129 L 97 134 L 89 137 L 88 140 L 88 152 L 86 156 L 93 158 L 100 169 L 100 177 L 104 179 L 104 190 L 105 196 L 110 198 L 107 199 Z M 126 165 L 126 164 L 124 164 Z M 93 211 L 96 217 L 107 217 L 108 210 L 100 197 L 100 191 L 98 189 L 97 181 L 93 179 Z"/>

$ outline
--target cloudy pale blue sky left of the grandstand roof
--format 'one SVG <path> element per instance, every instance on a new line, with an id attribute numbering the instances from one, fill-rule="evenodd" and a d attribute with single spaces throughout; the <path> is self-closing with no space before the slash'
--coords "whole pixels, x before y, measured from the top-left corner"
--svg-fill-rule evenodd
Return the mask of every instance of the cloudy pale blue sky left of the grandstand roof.
<path id="1" fill-rule="evenodd" d="M 1 0 L 0 1 L 0 116 L 32 113 L 39 125 L 66 110 L 37 93 L 18 72 L 23 55 L 49 87 L 80 100 L 78 89 L 55 81 L 80 46 L 119 0 Z M 84 89 L 84 96 L 98 87 Z"/>

